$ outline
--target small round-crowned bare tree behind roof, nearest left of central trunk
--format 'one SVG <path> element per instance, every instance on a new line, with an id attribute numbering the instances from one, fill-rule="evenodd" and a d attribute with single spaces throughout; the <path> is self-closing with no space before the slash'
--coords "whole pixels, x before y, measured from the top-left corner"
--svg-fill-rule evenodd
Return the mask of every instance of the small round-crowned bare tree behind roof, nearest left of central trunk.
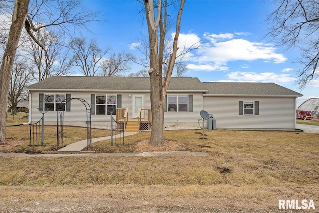
<path id="1" fill-rule="evenodd" d="M 100 75 L 104 77 L 121 76 L 131 69 L 129 63 L 132 60 L 135 60 L 135 57 L 131 53 L 112 53 L 109 59 L 101 63 Z"/>

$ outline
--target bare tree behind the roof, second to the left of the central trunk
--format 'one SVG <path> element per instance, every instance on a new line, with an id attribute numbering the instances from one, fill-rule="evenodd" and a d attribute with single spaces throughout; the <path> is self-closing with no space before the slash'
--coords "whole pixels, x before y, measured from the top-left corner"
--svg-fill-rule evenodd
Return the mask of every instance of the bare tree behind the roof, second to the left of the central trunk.
<path id="1" fill-rule="evenodd" d="M 74 66 L 80 67 L 85 76 L 95 76 L 100 68 L 100 61 L 109 48 L 102 51 L 94 39 L 87 43 L 85 38 L 74 38 L 70 48 L 73 53 Z"/>

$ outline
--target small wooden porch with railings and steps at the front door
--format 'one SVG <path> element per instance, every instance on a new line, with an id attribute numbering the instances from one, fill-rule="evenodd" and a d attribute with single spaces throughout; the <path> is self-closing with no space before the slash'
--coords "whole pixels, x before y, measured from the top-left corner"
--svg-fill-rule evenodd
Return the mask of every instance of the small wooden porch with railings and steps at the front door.
<path id="1" fill-rule="evenodd" d="M 129 108 L 116 109 L 116 122 L 124 125 L 124 131 L 137 132 L 140 130 L 149 130 L 152 127 L 151 109 L 139 108 L 137 118 L 128 117 Z"/>

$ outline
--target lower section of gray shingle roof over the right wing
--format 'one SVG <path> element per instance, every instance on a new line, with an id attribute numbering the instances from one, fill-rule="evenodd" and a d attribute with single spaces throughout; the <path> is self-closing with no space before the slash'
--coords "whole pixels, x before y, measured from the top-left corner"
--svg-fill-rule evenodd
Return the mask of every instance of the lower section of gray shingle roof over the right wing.
<path id="1" fill-rule="evenodd" d="M 208 95 L 287 95 L 302 96 L 302 94 L 275 83 L 203 83 Z"/>

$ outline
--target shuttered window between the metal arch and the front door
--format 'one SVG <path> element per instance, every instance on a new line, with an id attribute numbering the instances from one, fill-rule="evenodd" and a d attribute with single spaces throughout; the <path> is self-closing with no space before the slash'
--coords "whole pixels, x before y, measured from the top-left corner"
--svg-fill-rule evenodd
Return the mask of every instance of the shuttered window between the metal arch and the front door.
<path id="1" fill-rule="evenodd" d="M 117 95 L 96 95 L 96 115 L 115 115 Z"/>

